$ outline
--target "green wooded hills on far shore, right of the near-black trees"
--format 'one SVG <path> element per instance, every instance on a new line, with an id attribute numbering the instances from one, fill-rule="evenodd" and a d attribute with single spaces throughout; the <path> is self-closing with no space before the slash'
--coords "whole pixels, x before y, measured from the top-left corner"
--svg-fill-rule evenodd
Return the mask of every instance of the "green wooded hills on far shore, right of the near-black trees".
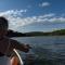
<path id="1" fill-rule="evenodd" d="M 63 36 L 65 35 L 65 29 L 54 30 L 50 32 L 32 31 L 32 32 L 26 32 L 26 35 L 27 36 Z"/>

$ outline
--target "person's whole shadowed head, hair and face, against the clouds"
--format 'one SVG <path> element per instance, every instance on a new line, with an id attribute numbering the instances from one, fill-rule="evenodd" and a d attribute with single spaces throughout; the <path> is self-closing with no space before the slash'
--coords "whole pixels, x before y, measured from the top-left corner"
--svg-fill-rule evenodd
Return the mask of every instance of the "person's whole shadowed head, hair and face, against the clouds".
<path id="1" fill-rule="evenodd" d="M 0 16 L 0 37 L 3 37 L 8 32 L 8 20 L 3 16 Z"/>

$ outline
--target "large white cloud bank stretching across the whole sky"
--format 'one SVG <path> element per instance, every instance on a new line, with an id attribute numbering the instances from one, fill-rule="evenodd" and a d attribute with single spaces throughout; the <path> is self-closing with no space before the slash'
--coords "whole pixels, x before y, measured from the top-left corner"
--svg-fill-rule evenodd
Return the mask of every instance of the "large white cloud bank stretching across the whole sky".
<path id="1" fill-rule="evenodd" d="M 28 16 L 23 17 L 23 13 L 26 13 L 27 10 L 10 10 L 5 12 L 0 12 L 0 16 L 4 16 L 9 20 L 9 27 L 13 30 L 17 30 L 20 27 L 35 24 L 35 23 L 42 23 L 42 24 L 61 24 L 65 23 L 64 16 L 57 16 L 54 13 L 43 14 L 39 16 Z"/>

